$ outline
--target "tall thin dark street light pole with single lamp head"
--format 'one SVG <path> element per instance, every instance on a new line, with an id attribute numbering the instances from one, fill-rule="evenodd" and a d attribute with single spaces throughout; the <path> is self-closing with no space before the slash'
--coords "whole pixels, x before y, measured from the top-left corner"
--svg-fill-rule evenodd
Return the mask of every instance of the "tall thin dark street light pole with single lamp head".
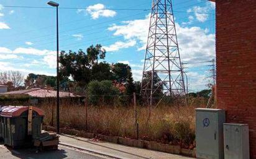
<path id="1" fill-rule="evenodd" d="M 57 11 L 57 106 L 56 106 L 56 131 L 57 134 L 60 134 L 60 73 L 59 73 L 59 64 L 58 64 L 58 6 L 59 4 L 57 2 L 50 1 L 47 4 L 50 6 L 56 7 Z"/>

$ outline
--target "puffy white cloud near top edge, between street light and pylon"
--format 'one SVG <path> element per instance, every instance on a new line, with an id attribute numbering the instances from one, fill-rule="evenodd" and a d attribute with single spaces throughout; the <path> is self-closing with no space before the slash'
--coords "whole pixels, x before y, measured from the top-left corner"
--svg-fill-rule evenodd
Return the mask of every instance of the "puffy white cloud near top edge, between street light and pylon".
<path id="1" fill-rule="evenodd" d="M 81 9 L 77 11 L 83 12 Z M 88 6 L 86 12 L 91 15 L 92 19 L 98 19 L 99 17 L 114 17 L 116 15 L 115 11 L 106 9 L 104 4 L 94 4 L 93 6 Z"/>

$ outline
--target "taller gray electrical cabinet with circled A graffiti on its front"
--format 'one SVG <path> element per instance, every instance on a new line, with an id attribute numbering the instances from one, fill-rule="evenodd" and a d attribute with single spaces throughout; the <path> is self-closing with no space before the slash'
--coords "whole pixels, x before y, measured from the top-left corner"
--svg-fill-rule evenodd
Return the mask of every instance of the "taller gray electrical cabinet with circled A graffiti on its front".
<path id="1" fill-rule="evenodd" d="M 196 109 L 196 157 L 199 159 L 224 159 L 223 123 L 225 111 Z"/>

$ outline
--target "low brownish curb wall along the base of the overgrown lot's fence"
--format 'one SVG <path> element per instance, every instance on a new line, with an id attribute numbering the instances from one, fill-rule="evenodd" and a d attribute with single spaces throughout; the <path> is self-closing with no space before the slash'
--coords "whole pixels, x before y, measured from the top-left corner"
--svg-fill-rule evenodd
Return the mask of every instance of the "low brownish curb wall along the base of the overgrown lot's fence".
<path id="1" fill-rule="evenodd" d="M 43 126 L 43 129 L 45 129 L 46 131 L 56 131 L 55 127 L 51 127 L 51 126 Z M 61 128 L 60 132 L 63 134 L 76 135 L 76 136 L 85 137 L 88 139 L 98 137 L 99 140 L 112 142 L 114 144 L 126 145 L 129 147 L 146 148 L 146 149 L 155 150 L 158 152 L 184 155 L 186 157 L 194 157 L 194 158 L 196 157 L 196 148 L 194 148 L 193 150 L 190 150 L 186 148 L 181 148 L 179 145 L 160 144 L 158 142 L 152 142 L 147 140 L 134 140 L 134 139 L 116 137 L 116 136 L 112 137 L 112 136 L 101 135 L 101 134 L 93 134 L 85 131 L 77 131 L 73 129 Z"/>

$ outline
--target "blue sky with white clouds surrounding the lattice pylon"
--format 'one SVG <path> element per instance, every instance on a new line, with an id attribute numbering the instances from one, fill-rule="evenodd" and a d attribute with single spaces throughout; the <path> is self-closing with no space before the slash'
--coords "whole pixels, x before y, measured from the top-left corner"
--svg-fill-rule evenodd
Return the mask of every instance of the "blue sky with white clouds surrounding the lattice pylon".
<path id="1" fill-rule="evenodd" d="M 9 7 L 48 7 L 47 2 L 0 0 L 0 71 L 55 75 L 55 9 Z M 107 50 L 107 62 L 130 64 L 134 79 L 141 79 L 150 14 L 144 9 L 150 9 L 151 0 L 56 2 L 76 8 L 60 8 L 60 50 L 77 51 L 99 43 Z M 215 57 L 214 3 L 173 0 L 173 10 L 190 90 L 201 90 L 208 82 L 206 61 Z"/>

